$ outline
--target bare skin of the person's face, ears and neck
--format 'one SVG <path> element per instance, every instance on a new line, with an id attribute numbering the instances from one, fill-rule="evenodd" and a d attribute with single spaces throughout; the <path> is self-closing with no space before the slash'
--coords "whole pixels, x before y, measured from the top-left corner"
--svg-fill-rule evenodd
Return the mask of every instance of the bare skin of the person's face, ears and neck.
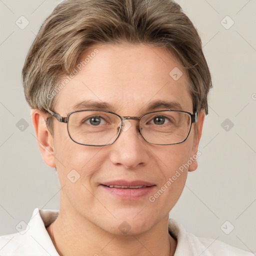
<path id="1" fill-rule="evenodd" d="M 192 112 L 187 78 L 174 56 L 163 48 L 142 44 L 94 45 L 99 53 L 57 94 L 54 111 L 66 116 L 74 103 L 84 99 L 108 102 L 121 116 L 140 116 L 152 100 L 173 100 Z M 183 75 L 174 80 L 170 70 Z M 155 110 L 165 109 L 160 107 Z M 173 255 L 175 237 L 168 234 L 168 213 L 177 202 L 188 171 L 196 160 L 154 202 L 148 200 L 179 166 L 196 154 L 204 112 L 192 124 L 187 139 L 174 145 L 147 143 L 136 129 L 136 121 L 108 146 L 84 146 L 73 142 L 66 123 L 53 118 L 54 136 L 47 130 L 47 114 L 32 109 L 32 122 L 44 162 L 56 167 L 62 189 L 59 215 L 47 231 L 60 255 Z M 197 125 L 197 133 L 195 126 Z M 80 178 L 67 178 L 75 169 Z M 105 192 L 104 181 L 145 180 L 155 184 L 152 193 L 137 200 L 122 200 Z M 126 221 L 123 234 L 118 226 Z"/>

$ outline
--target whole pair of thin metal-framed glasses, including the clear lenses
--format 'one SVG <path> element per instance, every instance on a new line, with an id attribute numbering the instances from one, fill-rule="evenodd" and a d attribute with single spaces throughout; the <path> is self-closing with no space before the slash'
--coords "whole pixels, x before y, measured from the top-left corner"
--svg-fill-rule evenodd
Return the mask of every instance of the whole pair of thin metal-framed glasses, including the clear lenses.
<path id="1" fill-rule="evenodd" d="M 69 137 L 87 146 L 112 144 L 124 130 L 124 120 L 137 120 L 137 129 L 145 141 L 156 145 L 179 144 L 186 140 L 197 114 L 183 110 L 159 110 L 137 116 L 120 116 L 107 110 L 77 110 L 62 117 L 45 109 L 59 122 L 67 123 Z"/>

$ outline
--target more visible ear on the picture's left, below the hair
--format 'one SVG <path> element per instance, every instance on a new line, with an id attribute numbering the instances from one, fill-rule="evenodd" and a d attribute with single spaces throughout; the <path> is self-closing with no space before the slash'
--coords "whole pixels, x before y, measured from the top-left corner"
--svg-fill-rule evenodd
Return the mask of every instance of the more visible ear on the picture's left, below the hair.
<path id="1" fill-rule="evenodd" d="M 38 109 L 31 109 L 31 120 L 42 159 L 50 167 L 56 167 L 53 138 L 46 126 L 47 115 L 48 113 L 43 113 Z"/>

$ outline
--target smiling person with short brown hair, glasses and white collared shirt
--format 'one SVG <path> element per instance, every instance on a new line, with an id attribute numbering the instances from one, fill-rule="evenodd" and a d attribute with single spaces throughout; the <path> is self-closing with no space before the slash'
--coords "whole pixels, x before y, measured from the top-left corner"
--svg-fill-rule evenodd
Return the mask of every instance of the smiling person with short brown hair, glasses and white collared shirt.
<path id="1" fill-rule="evenodd" d="M 173 0 L 65 0 L 23 69 L 59 210 L 35 208 L 0 255 L 253 255 L 168 214 L 197 168 L 212 87 L 200 37 Z"/>

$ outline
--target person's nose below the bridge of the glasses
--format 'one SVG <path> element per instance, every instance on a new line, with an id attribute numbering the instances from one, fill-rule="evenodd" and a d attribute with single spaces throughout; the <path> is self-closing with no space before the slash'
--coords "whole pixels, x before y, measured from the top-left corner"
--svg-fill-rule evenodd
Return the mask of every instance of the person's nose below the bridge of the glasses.
<path id="1" fill-rule="evenodd" d="M 147 142 L 138 130 L 136 119 L 123 121 L 119 137 L 109 148 L 111 162 L 125 168 L 134 169 L 138 165 L 145 165 L 150 159 Z"/>

